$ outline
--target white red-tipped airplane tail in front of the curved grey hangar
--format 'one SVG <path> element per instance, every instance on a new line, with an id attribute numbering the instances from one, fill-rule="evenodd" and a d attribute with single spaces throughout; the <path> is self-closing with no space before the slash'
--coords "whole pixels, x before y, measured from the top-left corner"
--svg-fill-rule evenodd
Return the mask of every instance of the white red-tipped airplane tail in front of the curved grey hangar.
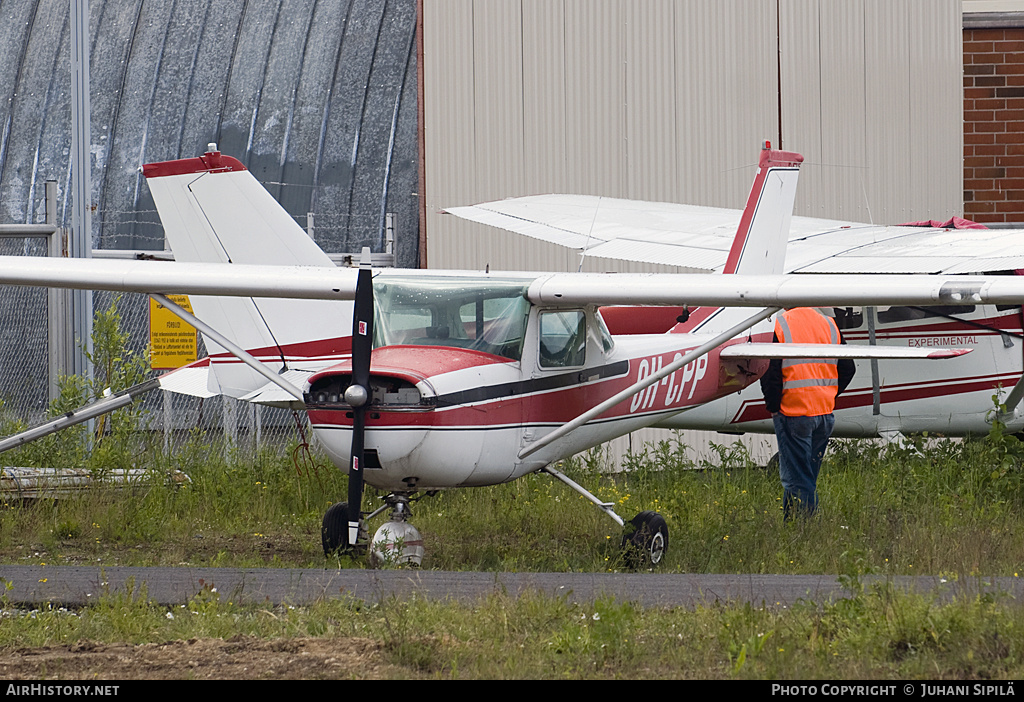
<path id="1" fill-rule="evenodd" d="M 245 166 L 215 144 L 199 158 L 147 164 L 142 173 L 176 261 L 334 265 Z M 191 305 L 197 317 L 275 370 L 290 367 L 290 359 L 348 351 L 331 340 L 350 337 L 349 303 L 197 297 Z M 206 344 L 217 361 L 211 391 L 242 397 L 265 384 L 214 342 Z"/>

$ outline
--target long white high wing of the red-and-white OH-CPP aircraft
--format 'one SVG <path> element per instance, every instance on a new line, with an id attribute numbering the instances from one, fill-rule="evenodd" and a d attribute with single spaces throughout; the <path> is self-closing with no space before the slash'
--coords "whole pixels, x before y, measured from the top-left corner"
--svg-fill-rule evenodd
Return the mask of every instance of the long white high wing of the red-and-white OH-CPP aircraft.
<path id="1" fill-rule="evenodd" d="M 452 271 L 389 269 L 451 277 Z M 0 284 L 113 292 L 353 300 L 356 269 L 0 256 Z M 488 275 L 488 274 L 480 274 Z M 492 271 L 490 276 L 503 275 Z M 536 304 L 842 307 L 1024 303 L 1024 276 L 519 273 Z"/>

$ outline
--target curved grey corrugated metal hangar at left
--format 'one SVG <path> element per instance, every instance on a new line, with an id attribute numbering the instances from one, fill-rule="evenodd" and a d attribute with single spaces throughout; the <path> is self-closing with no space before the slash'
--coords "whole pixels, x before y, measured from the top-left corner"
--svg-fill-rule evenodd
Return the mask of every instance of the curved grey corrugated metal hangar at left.
<path id="1" fill-rule="evenodd" d="M 0 222 L 69 223 L 69 0 L 0 5 Z M 418 261 L 416 2 L 90 0 L 93 245 L 163 249 L 138 168 L 242 160 L 330 252 L 383 247 L 385 212 Z M 308 220 L 313 214 L 313 221 Z"/>

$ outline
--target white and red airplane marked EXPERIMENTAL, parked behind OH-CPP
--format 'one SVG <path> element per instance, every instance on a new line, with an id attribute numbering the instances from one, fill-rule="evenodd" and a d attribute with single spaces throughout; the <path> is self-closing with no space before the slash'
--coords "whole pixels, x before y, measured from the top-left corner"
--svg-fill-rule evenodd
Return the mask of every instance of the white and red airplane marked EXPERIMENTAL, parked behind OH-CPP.
<path id="1" fill-rule="evenodd" d="M 451 214 L 575 249 L 582 256 L 722 272 L 741 219 L 739 210 L 589 195 L 535 195 Z M 953 218 L 878 226 L 793 217 L 786 273 L 964 274 L 1024 272 L 1024 231 L 986 229 Z M 610 307 L 601 310 L 614 335 L 698 333 L 714 308 Z M 1011 432 L 1024 432 L 1024 310 L 1018 304 L 843 306 L 836 321 L 851 344 L 966 347 L 941 365 L 858 360 L 839 398 L 837 436 L 898 439 L 903 434 L 984 435 L 995 403 Z M 658 422 L 666 429 L 771 434 L 757 385 Z"/>

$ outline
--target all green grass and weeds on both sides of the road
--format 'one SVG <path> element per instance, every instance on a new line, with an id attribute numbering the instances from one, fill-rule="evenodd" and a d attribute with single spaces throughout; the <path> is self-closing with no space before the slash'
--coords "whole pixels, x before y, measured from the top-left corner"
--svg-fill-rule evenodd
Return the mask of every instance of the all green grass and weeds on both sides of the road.
<path id="1" fill-rule="evenodd" d="M 95 392 L 81 383 L 67 388 L 72 399 Z M 155 479 L 3 506 L 0 562 L 362 566 L 321 552 L 324 511 L 346 494 L 345 478 L 322 456 L 298 470 L 295 446 L 225 451 L 203 435 L 164 455 L 144 418 L 124 411 L 98 441 L 72 430 L 10 463 L 97 473 L 143 468 Z M 390 676 L 1013 678 L 1024 673 L 1024 608 L 991 597 L 939 604 L 898 591 L 889 576 L 1024 573 L 1022 466 L 1024 444 L 998 423 L 975 440 L 920 437 L 904 447 L 836 441 L 818 516 L 790 524 L 782 523 L 777 475 L 742 449 L 717 447 L 694 465 L 676 439 L 628 456 L 621 473 L 608 473 L 597 452 L 560 466 L 627 519 L 643 510 L 666 517 L 664 572 L 835 573 L 852 596 L 834 603 L 666 610 L 496 596 L 473 607 L 412 600 L 271 608 L 203 593 L 166 608 L 140 588 L 78 612 L 0 607 L 0 651 L 239 634 L 357 638 L 383 656 Z M 190 482 L 166 482 L 172 470 Z M 379 497 L 369 490 L 367 507 Z M 425 497 L 413 512 L 426 541 L 424 568 L 624 569 L 618 528 L 545 475 Z M 867 574 L 881 578 L 865 585 Z"/>

